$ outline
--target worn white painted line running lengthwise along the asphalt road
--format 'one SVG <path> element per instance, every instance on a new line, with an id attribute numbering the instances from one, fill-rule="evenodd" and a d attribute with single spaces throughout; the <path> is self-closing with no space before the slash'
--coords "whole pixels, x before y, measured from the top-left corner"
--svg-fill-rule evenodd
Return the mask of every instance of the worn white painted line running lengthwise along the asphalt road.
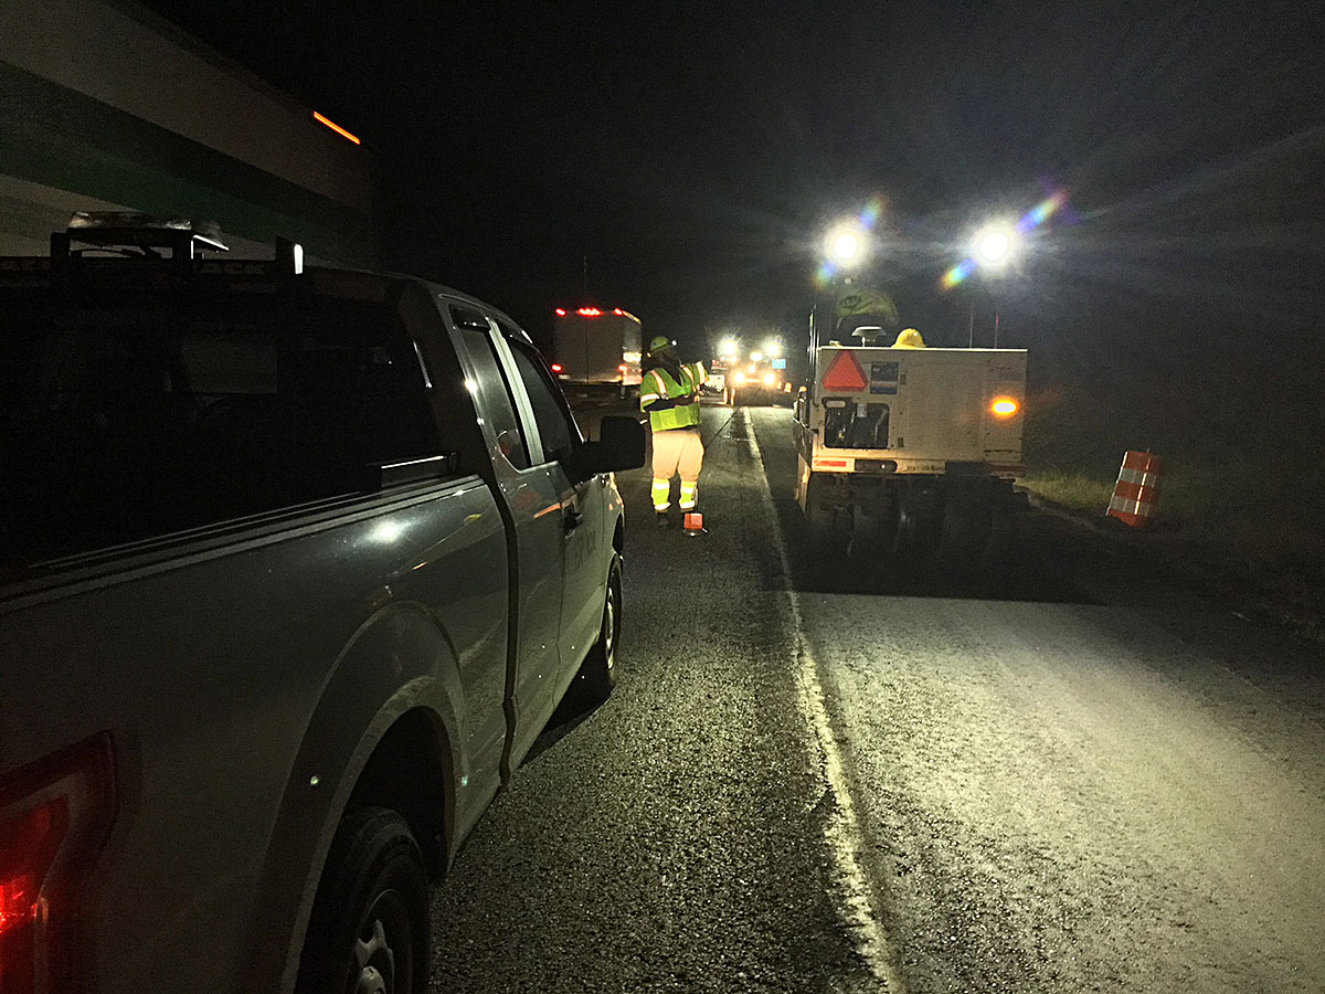
<path id="1" fill-rule="evenodd" d="M 840 903 L 839 914 L 847 928 L 855 934 L 857 952 L 869 966 L 874 979 L 880 981 L 885 990 L 893 994 L 905 994 L 906 986 L 901 975 L 893 966 L 896 962 L 888 933 L 874 912 L 873 892 L 869 877 L 861 869 L 861 852 L 864 839 L 860 831 L 860 822 L 856 819 L 856 806 L 851 799 L 851 789 L 847 783 L 845 767 L 841 753 L 837 749 L 837 740 L 833 736 L 832 725 L 828 721 L 828 708 L 824 701 L 823 684 L 819 683 L 819 664 L 810 651 L 810 643 L 804 635 L 803 616 L 800 614 L 800 598 L 791 584 L 791 563 L 787 559 L 787 543 L 782 537 L 782 527 L 778 524 L 776 508 L 772 504 L 772 490 L 768 488 L 768 476 L 763 469 L 763 455 L 759 452 L 759 443 L 755 440 L 754 420 L 746 415 L 746 425 L 750 435 L 750 452 L 759 465 L 761 496 L 763 497 L 765 512 L 768 517 L 768 526 L 774 543 L 778 549 L 778 559 L 782 563 L 782 574 L 787 580 L 783 588 L 791 608 L 791 623 L 794 626 L 795 652 L 799 667 L 796 668 L 796 701 L 800 705 L 802 716 L 815 730 L 819 744 L 819 755 L 815 755 L 811 744 L 811 762 L 822 761 L 824 778 L 828 790 L 832 791 L 833 814 L 829 815 L 824 835 L 828 848 L 836 863 L 839 877 Z"/>

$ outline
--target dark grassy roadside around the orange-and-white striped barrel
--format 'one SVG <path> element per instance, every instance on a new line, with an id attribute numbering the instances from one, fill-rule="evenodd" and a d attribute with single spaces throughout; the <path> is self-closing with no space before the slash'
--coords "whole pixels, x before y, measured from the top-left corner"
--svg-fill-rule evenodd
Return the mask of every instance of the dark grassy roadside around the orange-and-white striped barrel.
<path id="1" fill-rule="evenodd" d="M 1325 640 L 1325 467 L 1316 457 L 1325 417 L 1275 391 L 1174 396 L 1151 384 L 1117 403 L 1104 395 L 1096 386 L 1028 398 L 1023 486 L 1240 610 Z M 1143 530 L 1105 517 L 1128 449 L 1163 459 L 1158 514 Z"/>

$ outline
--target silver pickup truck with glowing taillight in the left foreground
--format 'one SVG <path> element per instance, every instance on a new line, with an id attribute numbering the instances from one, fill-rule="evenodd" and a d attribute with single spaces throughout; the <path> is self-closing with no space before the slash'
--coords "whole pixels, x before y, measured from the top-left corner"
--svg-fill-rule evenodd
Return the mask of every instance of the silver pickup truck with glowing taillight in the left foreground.
<path id="1" fill-rule="evenodd" d="M 0 990 L 423 991 L 428 875 L 615 680 L 643 428 L 420 280 L 0 258 Z"/>

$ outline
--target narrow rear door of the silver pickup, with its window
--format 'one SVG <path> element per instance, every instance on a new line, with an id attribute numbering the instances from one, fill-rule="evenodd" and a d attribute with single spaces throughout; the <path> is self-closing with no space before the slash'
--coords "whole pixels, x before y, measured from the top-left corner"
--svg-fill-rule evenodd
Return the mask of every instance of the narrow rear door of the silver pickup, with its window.
<path id="1" fill-rule="evenodd" d="M 506 708 L 514 725 L 509 765 L 533 745 L 556 706 L 560 673 L 562 506 L 537 436 L 515 414 L 515 394 L 502 375 L 494 334 L 477 310 L 450 305 L 466 359 L 469 390 L 484 416 L 484 436 L 515 527 L 515 667 L 506 675 Z"/>

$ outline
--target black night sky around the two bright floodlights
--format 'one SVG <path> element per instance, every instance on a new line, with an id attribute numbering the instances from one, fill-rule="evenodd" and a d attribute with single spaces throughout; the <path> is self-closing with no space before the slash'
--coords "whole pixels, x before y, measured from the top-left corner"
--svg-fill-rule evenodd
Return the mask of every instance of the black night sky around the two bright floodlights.
<path id="1" fill-rule="evenodd" d="M 587 270 L 701 355 L 799 345 L 823 235 L 877 197 L 868 277 L 931 345 L 998 310 L 1064 376 L 1248 337 L 1321 359 L 1313 5 L 148 5 L 364 137 L 394 265 L 543 341 Z M 983 221 L 1060 191 L 1015 270 L 941 289 Z"/>

